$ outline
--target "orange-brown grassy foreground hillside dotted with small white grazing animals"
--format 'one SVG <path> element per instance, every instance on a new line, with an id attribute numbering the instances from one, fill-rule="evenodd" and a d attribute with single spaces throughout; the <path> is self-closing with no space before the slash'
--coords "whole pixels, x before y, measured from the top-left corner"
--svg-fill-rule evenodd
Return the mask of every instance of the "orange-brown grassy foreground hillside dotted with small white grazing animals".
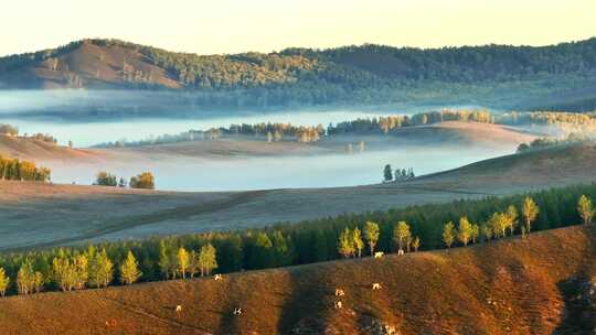
<path id="1" fill-rule="evenodd" d="M 592 334 L 596 230 L 213 279 L 0 299 L 2 334 Z M 382 290 L 372 291 L 380 282 Z M 341 288 L 343 309 L 333 309 Z M 181 305 L 182 311 L 175 312 Z M 233 310 L 243 309 L 234 316 Z"/>

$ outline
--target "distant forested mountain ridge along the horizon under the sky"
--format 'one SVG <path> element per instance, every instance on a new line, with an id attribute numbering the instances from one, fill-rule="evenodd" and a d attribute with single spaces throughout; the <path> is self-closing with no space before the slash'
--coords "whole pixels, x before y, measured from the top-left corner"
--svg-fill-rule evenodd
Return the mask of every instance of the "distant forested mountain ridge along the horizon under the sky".
<path id="1" fill-rule="evenodd" d="M 515 106 L 555 93 L 573 96 L 575 102 L 587 95 L 589 106 L 575 105 L 590 108 L 596 104 L 595 74 L 596 37 L 541 47 L 421 50 L 365 44 L 234 55 L 173 53 L 117 40 L 82 40 L 0 58 L 0 89 L 184 90 L 201 95 L 199 106 L 220 107 L 475 99 Z M 519 96 L 520 89 L 532 97 Z M 578 89 L 587 93 L 575 97 Z"/>

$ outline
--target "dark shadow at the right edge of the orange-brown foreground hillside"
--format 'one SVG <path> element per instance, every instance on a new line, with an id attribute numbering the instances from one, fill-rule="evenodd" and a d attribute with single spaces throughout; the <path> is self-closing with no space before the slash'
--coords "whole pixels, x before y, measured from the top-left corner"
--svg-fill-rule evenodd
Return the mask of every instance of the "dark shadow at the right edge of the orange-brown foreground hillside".
<path id="1" fill-rule="evenodd" d="M 596 274 L 596 227 L 586 229 L 588 246 L 583 266 L 575 275 L 557 283 L 565 303 L 562 322 L 554 334 L 596 334 L 596 311 L 584 299 L 584 285 Z M 590 257 L 593 256 L 593 257 Z"/>

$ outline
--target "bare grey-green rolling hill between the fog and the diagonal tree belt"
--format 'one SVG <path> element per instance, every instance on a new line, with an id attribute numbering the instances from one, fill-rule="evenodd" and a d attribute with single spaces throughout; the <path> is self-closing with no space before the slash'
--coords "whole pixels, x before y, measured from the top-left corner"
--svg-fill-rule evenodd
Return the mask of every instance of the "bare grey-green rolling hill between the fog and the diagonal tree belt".
<path id="1" fill-rule="evenodd" d="M 508 195 L 595 182 L 594 169 L 596 145 L 590 143 L 501 156 L 411 182 L 353 187 L 177 193 L 0 182 L 0 249 L 245 229 Z"/>

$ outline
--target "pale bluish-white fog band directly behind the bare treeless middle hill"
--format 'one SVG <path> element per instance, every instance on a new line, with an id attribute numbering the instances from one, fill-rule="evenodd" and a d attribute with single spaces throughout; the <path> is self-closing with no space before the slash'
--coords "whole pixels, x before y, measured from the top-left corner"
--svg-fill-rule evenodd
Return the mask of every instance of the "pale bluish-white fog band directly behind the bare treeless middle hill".
<path id="1" fill-rule="evenodd" d="M 285 187 L 332 187 L 375 184 L 382 181 L 385 164 L 413 168 L 428 174 L 479 160 L 512 153 L 509 149 L 478 147 L 403 147 L 392 151 L 354 154 L 204 160 L 173 158 L 142 163 L 64 165 L 56 162 L 56 183 L 91 184 L 99 170 L 129 179 L 141 171 L 156 175 L 157 188 L 171 191 L 241 191 Z"/>

